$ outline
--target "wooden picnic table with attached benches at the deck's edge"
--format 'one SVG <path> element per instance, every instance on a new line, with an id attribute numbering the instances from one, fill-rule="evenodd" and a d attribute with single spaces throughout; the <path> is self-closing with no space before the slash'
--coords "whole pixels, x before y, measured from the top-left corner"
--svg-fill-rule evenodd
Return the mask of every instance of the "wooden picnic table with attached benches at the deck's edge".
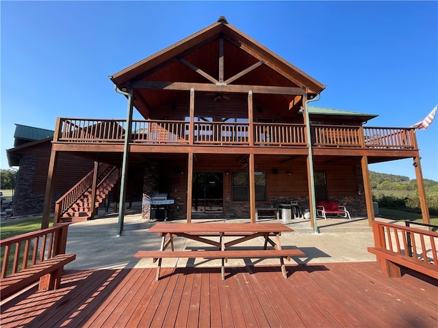
<path id="1" fill-rule="evenodd" d="M 158 233 L 162 237 L 159 251 L 138 251 L 136 258 L 153 258 L 158 260 L 156 280 L 159 279 L 159 270 L 162 258 L 220 258 L 222 280 L 224 277 L 224 262 L 227 258 L 279 258 L 283 277 L 287 277 L 283 258 L 291 256 L 305 256 L 300 249 L 282 249 L 280 243 L 281 232 L 292 232 L 291 228 L 281 223 L 157 223 L 148 232 Z M 175 251 L 173 238 L 181 236 L 194 241 L 218 247 L 217 250 Z M 219 241 L 206 237 L 219 237 Z M 225 241 L 225 237 L 237 237 Z M 230 250 L 229 247 L 250 241 L 253 238 L 263 237 L 263 249 Z M 272 241 L 274 238 L 274 241 Z M 268 249 L 268 243 L 273 249 Z M 171 251 L 165 251 L 170 245 Z"/>

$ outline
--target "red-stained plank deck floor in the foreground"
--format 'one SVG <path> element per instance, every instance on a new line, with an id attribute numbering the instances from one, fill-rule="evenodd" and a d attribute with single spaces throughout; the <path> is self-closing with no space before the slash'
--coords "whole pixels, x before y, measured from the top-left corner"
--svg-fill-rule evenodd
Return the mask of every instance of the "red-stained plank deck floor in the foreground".
<path id="1" fill-rule="evenodd" d="M 1 306 L 1 327 L 438 327 L 438 287 L 376 262 L 66 271 Z"/>

